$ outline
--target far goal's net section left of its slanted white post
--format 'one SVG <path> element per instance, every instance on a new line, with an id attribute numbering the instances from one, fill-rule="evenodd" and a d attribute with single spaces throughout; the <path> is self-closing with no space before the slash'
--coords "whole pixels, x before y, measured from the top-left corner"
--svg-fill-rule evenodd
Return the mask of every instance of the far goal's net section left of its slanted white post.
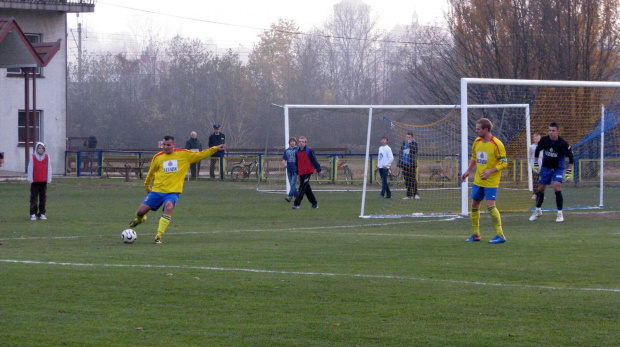
<path id="1" fill-rule="evenodd" d="M 286 193 L 283 166 L 288 139 L 304 136 L 321 165 L 322 175 L 311 177 L 313 191 L 361 191 L 368 109 L 357 106 L 285 105 L 284 126 L 276 143 L 266 145 L 258 191 Z M 282 124 L 282 122 L 281 122 Z"/>

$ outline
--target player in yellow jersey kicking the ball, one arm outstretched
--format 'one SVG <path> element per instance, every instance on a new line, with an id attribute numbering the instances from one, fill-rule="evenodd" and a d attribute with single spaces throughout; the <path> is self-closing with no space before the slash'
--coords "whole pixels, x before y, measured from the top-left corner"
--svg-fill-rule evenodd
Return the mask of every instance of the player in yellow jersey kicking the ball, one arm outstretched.
<path id="1" fill-rule="evenodd" d="M 193 152 L 187 149 L 176 148 L 174 136 L 164 136 L 164 150 L 155 154 L 151 160 L 149 173 L 144 181 L 146 199 L 136 212 L 136 218 L 129 223 L 130 227 L 146 221 L 146 214 L 157 211 L 164 206 L 164 211 L 159 219 L 155 243 L 161 243 L 161 238 L 170 224 L 172 210 L 179 201 L 179 194 L 183 193 L 183 184 L 190 164 L 212 156 L 217 151 L 226 149 L 226 145 L 213 146 L 201 152 Z M 151 186 L 152 184 L 152 186 Z"/>

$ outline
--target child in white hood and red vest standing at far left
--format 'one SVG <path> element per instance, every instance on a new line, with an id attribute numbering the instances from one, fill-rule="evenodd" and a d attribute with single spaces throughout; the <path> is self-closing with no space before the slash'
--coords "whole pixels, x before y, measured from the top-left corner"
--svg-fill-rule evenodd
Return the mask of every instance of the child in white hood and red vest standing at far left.
<path id="1" fill-rule="evenodd" d="M 47 219 L 47 184 L 52 183 L 52 161 L 45 154 L 45 144 L 37 142 L 36 150 L 28 162 L 28 183 L 30 183 L 30 220 Z"/>

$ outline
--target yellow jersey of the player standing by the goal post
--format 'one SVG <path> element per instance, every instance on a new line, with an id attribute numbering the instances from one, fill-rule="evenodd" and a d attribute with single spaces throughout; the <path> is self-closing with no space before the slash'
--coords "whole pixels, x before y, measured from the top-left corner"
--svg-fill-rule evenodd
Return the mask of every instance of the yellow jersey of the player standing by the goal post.
<path id="1" fill-rule="evenodd" d="M 489 142 L 484 142 L 481 137 L 476 138 L 471 149 L 471 160 L 476 161 L 476 178 L 474 184 L 479 187 L 497 188 L 502 170 L 508 166 L 506 149 L 497 137 L 492 136 Z M 480 178 L 482 171 L 497 168 L 489 178 Z"/>

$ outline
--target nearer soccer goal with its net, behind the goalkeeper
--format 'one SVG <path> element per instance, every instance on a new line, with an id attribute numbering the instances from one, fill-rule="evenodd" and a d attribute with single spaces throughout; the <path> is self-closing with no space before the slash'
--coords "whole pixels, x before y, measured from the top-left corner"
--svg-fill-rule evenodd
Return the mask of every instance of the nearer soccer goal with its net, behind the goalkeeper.
<path id="1" fill-rule="evenodd" d="M 502 172 L 498 205 L 503 210 L 521 210 L 523 199 L 531 199 L 530 176 L 523 144 L 531 143 L 534 133 L 547 135 L 548 126 L 556 122 L 560 136 L 573 147 L 575 181 L 563 185 L 564 209 L 592 209 L 605 206 L 606 198 L 618 200 L 620 82 L 546 81 L 514 79 L 461 79 L 461 153 L 469 153 L 475 138 L 472 107 L 488 103 L 526 103 L 530 105 L 530 124 L 506 122 L 502 117 L 488 117 L 495 127 L 493 134 L 506 146 L 508 169 Z M 461 167 L 469 157 L 461 157 Z M 531 181 L 531 178 L 529 179 Z M 468 214 L 467 196 L 470 182 L 461 185 L 461 214 Z M 508 205 L 508 206 L 506 206 Z M 555 204 L 547 202 L 547 208 Z M 530 200 L 528 206 L 534 206 Z"/>

